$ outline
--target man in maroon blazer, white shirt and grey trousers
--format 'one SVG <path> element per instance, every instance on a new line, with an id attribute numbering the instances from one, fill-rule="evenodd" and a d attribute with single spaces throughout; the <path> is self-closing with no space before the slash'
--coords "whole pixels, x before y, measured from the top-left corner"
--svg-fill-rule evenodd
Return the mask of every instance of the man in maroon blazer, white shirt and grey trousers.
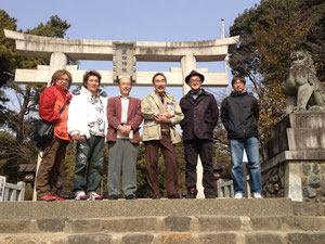
<path id="1" fill-rule="evenodd" d="M 139 126 L 142 123 L 141 101 L 130 97 L 130 78 L 120 78 L 118 87 L 120 95 L 109 99 L 107 103 L 108 193 L 109 200 L 118 198 L 122 168 L 126 198 L 135 200 Z"/>

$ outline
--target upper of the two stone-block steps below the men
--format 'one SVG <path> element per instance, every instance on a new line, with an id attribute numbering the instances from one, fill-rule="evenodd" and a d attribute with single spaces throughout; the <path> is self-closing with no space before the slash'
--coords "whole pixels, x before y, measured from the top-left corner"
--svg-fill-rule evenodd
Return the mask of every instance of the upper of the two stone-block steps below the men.
<path id="1" fill-rule="evenodd" d="M 0 220 L 0 233 L 324 231 L 325 217 L 167 216 Z"/>

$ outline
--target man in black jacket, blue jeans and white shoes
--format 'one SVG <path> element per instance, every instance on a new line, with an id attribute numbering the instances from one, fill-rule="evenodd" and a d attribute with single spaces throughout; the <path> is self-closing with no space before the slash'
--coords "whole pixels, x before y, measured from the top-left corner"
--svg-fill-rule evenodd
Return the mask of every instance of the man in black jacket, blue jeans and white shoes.
<path id="1" fill-rule="evenodd" d="M 244 149 L 248 158 L 250 191 L 255 198 L 261 198 L 261 169 L 259 156 L 258 127 L 259 106 L 256 98 L 245 91 L 243 76 L 232 79 L 234 91 L 221 103 L 221 120 L 230 140 L 232 175 L 235 198 L 245 192 L 243 179 Z"/>

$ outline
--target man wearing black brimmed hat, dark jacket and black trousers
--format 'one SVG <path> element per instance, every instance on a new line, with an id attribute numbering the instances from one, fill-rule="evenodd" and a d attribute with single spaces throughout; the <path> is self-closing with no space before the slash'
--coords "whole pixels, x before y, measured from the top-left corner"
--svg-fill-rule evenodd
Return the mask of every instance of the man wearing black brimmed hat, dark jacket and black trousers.
<path id="1" fill-rule="evenodd" d="M 204 167 L 203 187 L 205 189 L 205 197 L 216 197 L 213 190 L 212 141 L 219 111 L 214 97 L 200 88 L 204 80 L 205 77 L 202 74 L 192 70 L 185 78 L 186 84 L 191 87 L 191 91 L 180 102 L 184 114 L 184 119 L 180 125 L 183 129 L 186 160 L 187 198 L 195 198 L 197 194 L 196 165 L 198 155 Z"/>

